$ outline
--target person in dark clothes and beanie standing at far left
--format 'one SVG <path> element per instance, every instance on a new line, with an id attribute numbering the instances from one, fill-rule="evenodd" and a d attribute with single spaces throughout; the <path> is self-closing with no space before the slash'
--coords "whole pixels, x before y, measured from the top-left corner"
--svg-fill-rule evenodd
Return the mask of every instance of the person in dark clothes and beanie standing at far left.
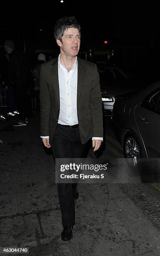
<path id="1" fill-rule="evenodd" d="M 20 113 L 20 120 L 13 126 L 26 126 L 27 106 L 28 106 L 28 88 L 25 76 L 25 64 L 23 56 L 16 51 L 13 41 L 7 39 L 4 42 L 4 49 L 9 56 L 8 73 L 6 86 L 13 85 L 16 104 Z"/>

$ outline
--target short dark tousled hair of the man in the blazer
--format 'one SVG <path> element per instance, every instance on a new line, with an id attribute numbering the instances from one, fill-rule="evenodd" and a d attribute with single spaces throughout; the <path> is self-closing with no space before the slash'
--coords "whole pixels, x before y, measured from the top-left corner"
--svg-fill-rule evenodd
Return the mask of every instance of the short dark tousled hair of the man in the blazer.
<path id="1" fill-rule="evenodd" d="M 55 23 L 55 40 L 62 41 L 62 36 L 66 29 L 68 28 L 77 28 L 80 33 L 80 24 L 77 19 L 73 17 L 63 17 L 56 21 Z"/>

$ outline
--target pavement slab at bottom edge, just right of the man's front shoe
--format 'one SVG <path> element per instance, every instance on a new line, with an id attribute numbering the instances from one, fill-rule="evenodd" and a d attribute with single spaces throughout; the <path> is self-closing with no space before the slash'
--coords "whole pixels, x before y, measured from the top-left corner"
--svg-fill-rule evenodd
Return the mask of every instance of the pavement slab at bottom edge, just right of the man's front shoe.
<path id="1" fill-rule="evenodd" d="M 92 228 L 74 233 L 70 242 L 75 255 L 127 255 L 122 242 L 112 228 Z"/>

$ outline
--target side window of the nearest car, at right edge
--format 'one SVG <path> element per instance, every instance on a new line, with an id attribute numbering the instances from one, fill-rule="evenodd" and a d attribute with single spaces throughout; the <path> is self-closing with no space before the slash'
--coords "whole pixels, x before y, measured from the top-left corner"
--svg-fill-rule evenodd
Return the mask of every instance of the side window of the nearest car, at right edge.
<path id="1" fill-rule="evenodd" d="M 145 97 L 145 99 L 141 103 L 141 106 L 153 111 L 157 111 L 159 98 L 160 98 L 160 88 L 151 92 L 147 97 Z"/>

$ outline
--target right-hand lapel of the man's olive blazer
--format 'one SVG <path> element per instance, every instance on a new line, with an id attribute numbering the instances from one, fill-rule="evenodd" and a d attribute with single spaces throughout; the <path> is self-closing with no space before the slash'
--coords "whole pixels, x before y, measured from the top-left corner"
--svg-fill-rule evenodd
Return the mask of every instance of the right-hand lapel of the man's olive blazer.
<path id="1" fill-rule="evenodd" d="M 82 85 L 85 77 L 85 68 L 80 58 L 78 57 L 77 57 L 77 68 L 78 68 L 78 72 L 77 72 L 77 107 L 78 107 Z"/>

